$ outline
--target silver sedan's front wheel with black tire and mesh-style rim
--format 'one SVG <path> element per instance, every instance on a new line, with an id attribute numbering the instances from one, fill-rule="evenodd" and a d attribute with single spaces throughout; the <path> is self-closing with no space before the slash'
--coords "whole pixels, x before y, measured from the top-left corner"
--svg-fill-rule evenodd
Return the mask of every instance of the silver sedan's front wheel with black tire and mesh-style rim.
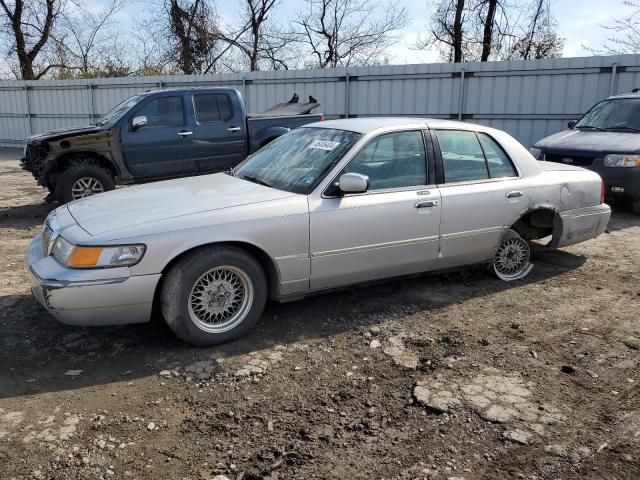
<path id="1" fill-rule="evenodd" d="M 242 249 L 205 247 L 181 259 L 167 273 L 160 310 L 185 342 L 208 347 L 244 335 L 267 301 L 260 264 Z"/>

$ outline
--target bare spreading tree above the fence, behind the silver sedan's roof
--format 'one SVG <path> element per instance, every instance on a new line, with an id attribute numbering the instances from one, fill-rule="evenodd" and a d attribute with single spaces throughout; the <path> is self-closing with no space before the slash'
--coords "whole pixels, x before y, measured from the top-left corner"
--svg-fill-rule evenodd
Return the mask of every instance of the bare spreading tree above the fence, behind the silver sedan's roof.
<path id="1" fill-rule="evenodd" d="M 379 63 L 407 24 L 405 8 L 370 0 L 307 0 L 294 21 L 295 40 L 311 51 L 310 66 L 330 68 Z"/>

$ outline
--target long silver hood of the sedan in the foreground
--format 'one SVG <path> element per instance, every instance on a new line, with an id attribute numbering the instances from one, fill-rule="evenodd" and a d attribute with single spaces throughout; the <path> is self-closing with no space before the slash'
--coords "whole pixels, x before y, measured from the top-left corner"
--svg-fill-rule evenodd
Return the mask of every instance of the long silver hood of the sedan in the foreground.
<path id="1" fill-rule="evenodd" d="M 121 188 L 67 205 L 89 235 L 295 196 L 224 173 Z M 142 229 L 141 229 L 142 230 Z"/>

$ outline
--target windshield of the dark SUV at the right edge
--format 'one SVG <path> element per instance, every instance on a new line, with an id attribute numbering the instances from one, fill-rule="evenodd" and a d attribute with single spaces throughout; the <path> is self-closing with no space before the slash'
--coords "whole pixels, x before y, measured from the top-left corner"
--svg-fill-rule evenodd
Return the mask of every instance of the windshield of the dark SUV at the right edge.
<path id="1" fill-rule="evenodd" d="M 605 100 L 576 123 L 578 130 L 640 131 L 640 99 Z"/>

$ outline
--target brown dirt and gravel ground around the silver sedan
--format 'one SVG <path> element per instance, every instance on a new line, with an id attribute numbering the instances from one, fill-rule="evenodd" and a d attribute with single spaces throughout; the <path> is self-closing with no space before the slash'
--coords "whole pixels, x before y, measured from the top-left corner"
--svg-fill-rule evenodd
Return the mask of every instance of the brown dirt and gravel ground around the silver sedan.
<path id="1" fill-rule="evenodd" d="M 159 320 L 74 328 L 39 307 L 23 257 L 44 197 L 0 161 L 3 480 L 640 478 L 640 217 L 537 248 L 523 281 L 271 304 L 196 349 Z"/>

